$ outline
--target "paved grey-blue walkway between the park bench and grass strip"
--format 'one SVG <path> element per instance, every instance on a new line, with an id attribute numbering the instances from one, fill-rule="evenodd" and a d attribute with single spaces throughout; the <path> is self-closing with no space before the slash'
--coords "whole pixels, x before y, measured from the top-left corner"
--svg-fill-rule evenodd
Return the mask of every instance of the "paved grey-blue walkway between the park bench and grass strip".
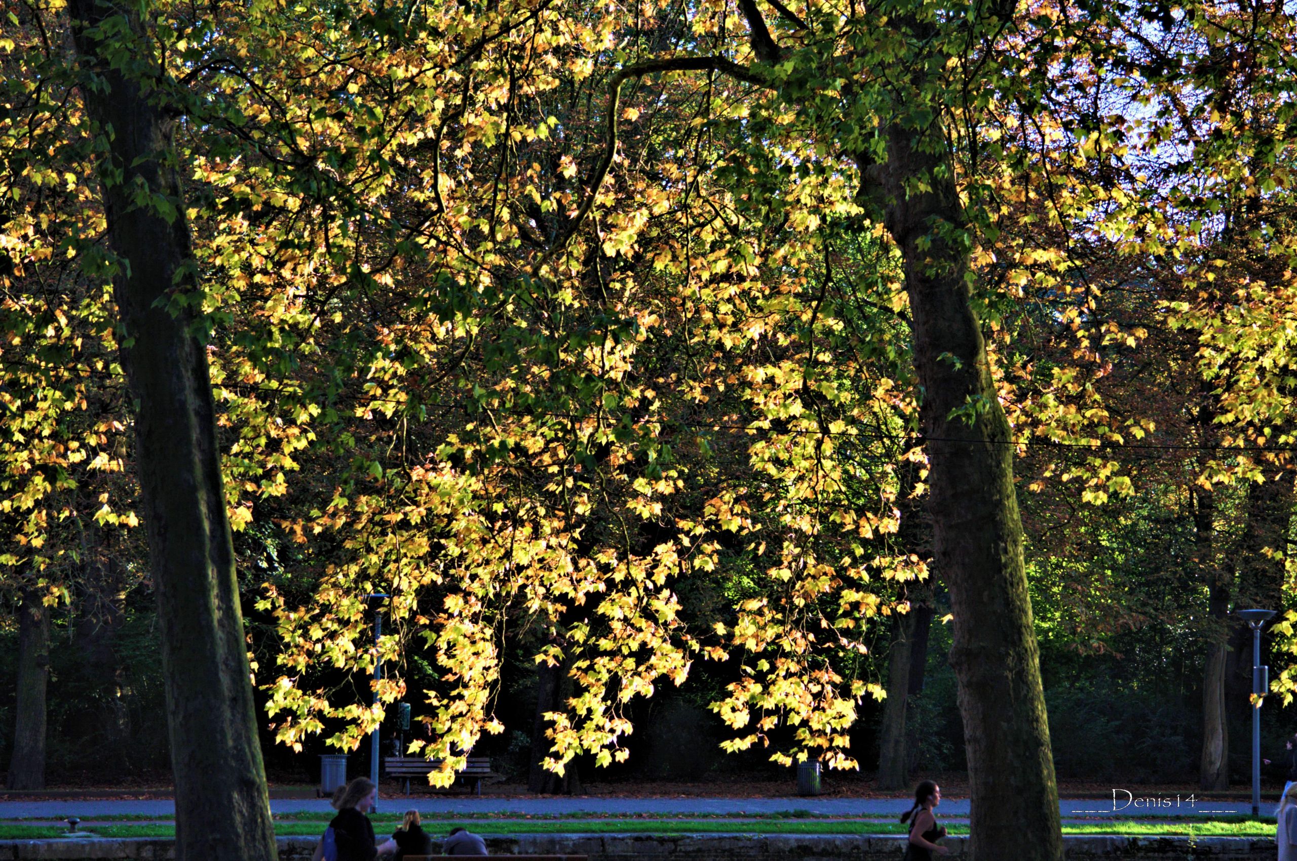
<path id="1" fill-rule="evenodd" d="M 1188 796 L 1163 795 L 1154 799 L 1140 799 L 1118 794 L 1113 799 L 1069 799 L 1060 801 L 1064 818 L 1145 818 L 1157 820 L 1185 816 L 1222 816 L 1252 813 L 1249 801 L 1188 801 Z M 610 797 L 475 797 L 475 796 L 427 796 L 380 797 L 380 813 L 399 813 L 407 809 L 420 813 L 516 813 L 519 816 L 559 816 L 565 813 L 589 813 L 594 816 L 619 814 L 690 814 L 711 816 L 770 814 L 805 810 L 808 813 L 840 817 L 899 817 L 909 808 L 909 803 L 899 799 L 699 799 L 699 797 L 651 797 L 651 799 L 610 799 Z M 327 813 L 331 810 L 324 799 L 272 799 L 272 813 Z M 1275 805 L 1262 803 L 1263 814 L 1274 813 Z M 938 816 L 961 818 L 969 814 L 968 799 L 943 799 Z M 150 816 L 167 818 L 175 816 L 175 804 L 158 801 L 112 801 L 99 799 L 65 801 L 0 801 L 0 821 L 13 820 L 61 820 L 77 816 L 92 820 L 104 816 Z"/>

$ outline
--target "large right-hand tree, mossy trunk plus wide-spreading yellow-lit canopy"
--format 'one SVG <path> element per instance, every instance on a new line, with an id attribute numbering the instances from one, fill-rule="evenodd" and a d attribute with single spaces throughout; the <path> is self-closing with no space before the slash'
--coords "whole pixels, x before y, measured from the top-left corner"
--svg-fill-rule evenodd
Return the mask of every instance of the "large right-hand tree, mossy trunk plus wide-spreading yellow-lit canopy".
<path id="1" fill-rule="evenodd" d="M 218 567 L 219 499 L 233 528 L 297 542 L 318 586 L 298 603 L 271 584 L 262 604 L 284 644 L 267 686 L 280 740 L 337 721 L 331 742 L 354 746 L 381 704 L 329 703 L 313 665 L 364 672 L 422 638 L 423 749 L 446 781 L 457 751 L 501 729 L 502 643 L 528 628 L 555 670 L 537 729 L 554 773 L 625 756 L 629 702 L 730 656 L 713 704 L 729 747 L 850 768 L 856 707 L 882 692 L 866 631 L 896 608 L 888 581 L 909 589 L 926 568 L 885 538 L 913 495 L 951 594 L 974 851 L 1018 856 L 1026 830 L 1032 857 L 1060 857 L 1013 458 L 1152 430 L 1099 394 L 1147 337 L 1101 319 L 1099 297 L 1131 272 L 1192 290 L 1219 268 L 1156 148 L 1198 135 L 1176 100 L 1205 74 L 1191 57 L 1219 65 L 1202 43 L 1232 13 L 1154 10 L 1132 29 L 1131 9 L 1092 5 L 792 5 L 217 4 L 149 19 L 162 49 L 136 53 L 156 89 L 132 117 L 193 176 L 192 206 L 150 153 L 123 154 L 123 170 L 144 157 L 144 185 L 128 209 L 106 176 L 110 235 L 126 242 L 140 226 L 123 213 L 152 213 L 143 227 L 178 249 L 145 298 L 184 322 L 174 383 L 193 427 L 220 424 L 174 436 L 205 458 L 228 445 L 226 482 L 200 488 Z M 1132 57 L 1154 25 L 1185 57 L 1145 75 Z M 113 101 L 93 92 L 102 119 Z M 1152 105 L 1153 131 L 1115 102 Z M 160 105 L 184 117 L 179 136 Z M 1165 171 L 1149 182 L 1132 154 Z M 1195 158 L 1209 184 L 1239 167 Z M 122 297 L 137 276 L 118 272 Z M 1039 366 L 1014 328 L 1032 302 L 1061 331 Z M 1213 302 L 1195 309 L 1208 323 L 1230 314 Z M 121 305 L 128 332 L 158 311 Z M 219 414 L 191 329 L 210 329 Z M 140 397 L 148 380 L 126 371 Z M 1223 421 L 1239 388 L 1200 399 Z M 140 440 L 145 475 L 157 455 Z M 923 489 L 904 494 L 918 456 Z M 1213 460 L 1195 481 L 1249 468 Z M 1099 453 L 1064 475 L 1087 503 L 1132 491 Z M 703 577 L 730 602 L 709 629 L 676 594 Z M 359 647 L 358 598 L 376 589 L 394 626 Z M 232 629 L 219 635 L 232 650 Z M 399 677 L 376 690 L 406 695 Z"/>

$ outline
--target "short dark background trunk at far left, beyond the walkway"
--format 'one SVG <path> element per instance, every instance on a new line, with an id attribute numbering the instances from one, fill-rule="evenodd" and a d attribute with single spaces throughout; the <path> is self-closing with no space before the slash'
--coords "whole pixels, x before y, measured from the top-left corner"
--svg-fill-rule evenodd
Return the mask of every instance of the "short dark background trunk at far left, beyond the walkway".
<path id="1" fill-rule="evenodd" d="M 49 683 L 49 608 L 42 593 L 29 589 L 18 609 L 18 698 L 13 756 L 5 786 L 45 788 L 45 689 Z"/>

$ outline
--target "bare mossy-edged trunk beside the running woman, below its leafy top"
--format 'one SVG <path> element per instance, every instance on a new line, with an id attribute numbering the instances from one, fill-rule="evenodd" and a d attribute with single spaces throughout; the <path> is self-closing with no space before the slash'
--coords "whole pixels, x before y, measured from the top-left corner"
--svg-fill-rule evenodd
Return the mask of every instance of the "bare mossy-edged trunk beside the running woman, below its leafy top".
<path id="1" fill-rule="evenodd" d="M 868 156 L 857 162 L 863 191 L 883 207 L 904 259 L 923 393 L 934 563 L 955 616 L 951 665 L 969 762 L 970 851 L 979 861 L 1060 861 L 1058 791 L 1012 434 L 970 302 L 969 245 L 961 241 L 969 226 L 939 124 L 912 130 L 894 121 L 886 140 L 886 163 Z"/>

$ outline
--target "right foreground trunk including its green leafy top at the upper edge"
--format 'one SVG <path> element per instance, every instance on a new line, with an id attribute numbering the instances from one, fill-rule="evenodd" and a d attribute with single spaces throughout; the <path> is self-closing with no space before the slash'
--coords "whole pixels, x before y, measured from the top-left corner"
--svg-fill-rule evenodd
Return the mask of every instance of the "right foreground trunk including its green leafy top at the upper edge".
<path id="1" fill-rule="evenodd" d="M 764 19 L 755 4 L 746 4 L 744 12 L 754 53 L 776 66 L 782 57 Z M 1013 482 L 1013 438 L 969 290 L 973 224 L 947 152 L 942 80 L 913 73 L 916 67 L 944 69 L 947 58 L 958 56 L 958 47 L 990 51 L 1000 22 L 1008 22 L 1013 10 L 988 9 L 986 18 L 971 19 L 968 32 L 957 35 L 943 34 L 936 17 L 904 6 L 892 12 L 887 38 L 875 40 L 872 29 L 850 30 L 859 65 L 846 79 L 853 95 L 869 95 L 869 101 L 856 96 L 857 104 L 869 105 L 865 112 L 875 118 L 879 134 L 874 147 L 848 149 L 848 154 L 860 171 L 860 198 L 872 205 L 904 261 L 916 376 L 923 392 L 933 556 L 955 616 L 951 664 L 960 682 L 973 851 L 975 857 L 1021 853 L 1016 835 L 1025 827 L 1038 835 L 1031 857 L 1061 858 L 1057 790 Z M 816 32 L 813 25 L 809 29 Z M 934 47 L 916 57 L 890 38 L 905 47 Z M 827 58 L 817 60 L 795 58 L 794 64 L 820 70 Z M 901 67 L 909 71 L 900 73 Z"/>

